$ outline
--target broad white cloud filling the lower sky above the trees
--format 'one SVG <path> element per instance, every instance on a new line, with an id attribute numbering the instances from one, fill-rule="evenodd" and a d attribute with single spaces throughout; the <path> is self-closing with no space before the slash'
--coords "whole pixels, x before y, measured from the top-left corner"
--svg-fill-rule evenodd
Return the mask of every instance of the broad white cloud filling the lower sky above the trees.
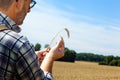
<path id="1" fill-rule="evenodd" d="M 22 25 L 22 34 L 26 35 L 32 43 L 39 42 L 44 45 L 49 43 L 59 30 L 67 27 L 70 30 L 71 37 L 70 39 L 64 37 L 66 47 L 77 52 L 86 51 L 104 55 L 105 53 L 119 55 L 120 32 L 118 30 L 120 29 L 118 27 L 84 21 L 76 22 L 71 19 L 71 16 L 76 16 L 76 14 L 60 11 L 52 6 L 41 5 L 26 17 Z M 90 17 L 83 16 L 82 18 L 90 20 Z"/>

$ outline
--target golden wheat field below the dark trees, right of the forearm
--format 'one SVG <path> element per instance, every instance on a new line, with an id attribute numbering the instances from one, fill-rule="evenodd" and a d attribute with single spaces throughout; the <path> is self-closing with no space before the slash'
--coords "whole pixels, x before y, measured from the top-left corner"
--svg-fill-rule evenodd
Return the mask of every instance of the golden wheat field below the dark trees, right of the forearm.
<path id="1" fill-rule="evenodd" d="M 120 80 L 120 67 L 94 62 L 58 62 L 53 66 L 55 80 Z"/>

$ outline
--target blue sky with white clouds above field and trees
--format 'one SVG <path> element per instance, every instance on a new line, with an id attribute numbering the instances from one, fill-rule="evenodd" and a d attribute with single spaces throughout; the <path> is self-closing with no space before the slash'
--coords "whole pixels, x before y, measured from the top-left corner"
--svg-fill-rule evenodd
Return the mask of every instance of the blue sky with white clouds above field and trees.
<path id="1" fill-rule="evenodd" d="M 21 25 L 21 34 L 31 43 L 49 44 L 62 30 L 59 35 L 63 36 L 65 47 L 77 53 L 120 56 L 120 0 L 36 2 Z M 70 38 L 67 38 L 64 28 L 69 30 Z"/>

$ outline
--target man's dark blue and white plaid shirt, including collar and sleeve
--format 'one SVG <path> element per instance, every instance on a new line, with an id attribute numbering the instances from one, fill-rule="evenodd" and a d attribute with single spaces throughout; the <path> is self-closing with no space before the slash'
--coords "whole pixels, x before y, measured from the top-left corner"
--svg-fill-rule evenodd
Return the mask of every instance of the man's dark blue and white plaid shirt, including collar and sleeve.
<path id="1" fill-rule="evenodd" d="M 21 29 L 8 16 L 0 12 L 0 80 L 52 80 L 52 75 L 40 69 L 34 47 Z"/>

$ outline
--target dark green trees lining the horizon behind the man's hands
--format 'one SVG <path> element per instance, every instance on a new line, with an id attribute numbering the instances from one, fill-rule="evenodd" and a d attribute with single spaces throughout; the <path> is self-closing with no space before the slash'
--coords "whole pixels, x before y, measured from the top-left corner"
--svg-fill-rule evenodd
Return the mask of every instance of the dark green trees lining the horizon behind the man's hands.
<path id="1" fill-rule="evenodd" d="M 45 45 L 45 48 L 48 44 Z M 40 50 L 41 45 L 37 43 L 35 45 L 35 50 Z M 100 65 L 110 65 L 110 66 L 120 66 L 120 57 L 119 56 L 104 56 L 98 55 L 94 53 L 76 53 L 74 50 L 69 48 L 65 48 L 65 56 L 63 58 L 58 59 L 57 61 L 65 61 L 65 62 L 75 62 L 75 61 L 92 61 L 98 62 Z"/>

